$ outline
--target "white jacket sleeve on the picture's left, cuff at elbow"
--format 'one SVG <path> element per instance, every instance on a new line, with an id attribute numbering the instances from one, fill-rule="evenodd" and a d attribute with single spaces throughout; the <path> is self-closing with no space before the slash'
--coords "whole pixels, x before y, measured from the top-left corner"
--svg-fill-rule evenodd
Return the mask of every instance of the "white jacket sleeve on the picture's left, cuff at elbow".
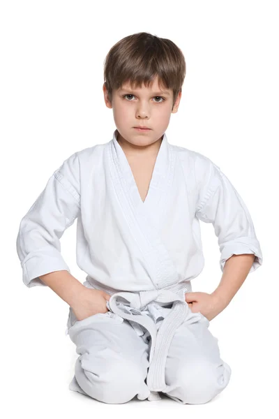
<path id="1" fill-rule="evenodd" d="M 80 166 L 77 153 L 48 179 L 45 189 L 20 222 L 17 255 L 24 284 L 46 286 L 40 275 L 70 269 L 61 256 L 60 238 L 80 212 Z"/>

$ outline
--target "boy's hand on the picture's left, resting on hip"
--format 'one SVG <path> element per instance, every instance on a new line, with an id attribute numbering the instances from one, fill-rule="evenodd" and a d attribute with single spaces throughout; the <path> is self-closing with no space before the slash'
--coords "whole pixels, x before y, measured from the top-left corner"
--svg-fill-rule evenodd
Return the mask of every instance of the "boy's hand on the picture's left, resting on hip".
<path id="1" fill-rule="evenodd" d="M 93 316 L 93 314 L 108 311 L 106 303 L 110 300 L 110 294 L 105 291 L 84 288 L 84 292 L 77 296 L 77 300 L 71 306 L 78 321 Z"/>

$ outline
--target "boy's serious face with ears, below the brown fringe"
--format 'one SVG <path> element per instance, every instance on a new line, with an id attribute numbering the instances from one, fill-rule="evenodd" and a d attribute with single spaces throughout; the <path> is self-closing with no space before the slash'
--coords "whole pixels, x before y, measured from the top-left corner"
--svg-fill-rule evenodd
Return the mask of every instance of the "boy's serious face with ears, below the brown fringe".
<path id="1" fill-rule="evenodd" d="M 137 146 L 150 145 L 159 140 L 169 125 L 172 113 L 177 112 L 181 98 L 179 92 L 174 107 L 171 89 L 160 91 L 158 78 L 150 87 L 131 89 L 130 84 L 123 84 L 121 89 L 112 91 L 112 102 L 107 97 L 103 85 L 105 104 L 112 108 L 114 122 L 119 135 Z M 149 131 L 139 131 L 135 126 L 147 126 Z"/>

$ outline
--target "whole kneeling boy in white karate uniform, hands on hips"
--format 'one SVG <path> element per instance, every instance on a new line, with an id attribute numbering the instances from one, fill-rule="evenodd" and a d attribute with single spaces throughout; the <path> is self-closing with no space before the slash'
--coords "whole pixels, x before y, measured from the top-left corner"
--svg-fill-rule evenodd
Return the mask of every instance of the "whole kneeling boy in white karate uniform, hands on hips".
<path id="1" fill-rule="evenodd" d="M 209 321 L 223 311 L 262 252 L 246 205 L 206 156 L 170 145 L 186 63 L 179 47 L 142 32 L 105 61 L 110 142 L 75 152 L 20 223 L 17 253 L 28 287 L 50 286 L 69 304 L 66 333 L 80 354 L 70 390 L 100 402 L 133 397 L 203 404 L 229 383 Z M 70 274 L 59 239 L 77 219 Z M 191 293 L 204 267 L 199 221 L 212 223 L 223 277 Z"/>

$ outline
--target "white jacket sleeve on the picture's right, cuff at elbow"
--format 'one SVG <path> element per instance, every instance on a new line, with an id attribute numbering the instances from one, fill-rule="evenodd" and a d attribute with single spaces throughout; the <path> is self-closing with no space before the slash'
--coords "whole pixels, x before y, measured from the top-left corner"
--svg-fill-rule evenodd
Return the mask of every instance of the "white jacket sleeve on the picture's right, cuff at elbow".
<path id="1" fill-rule="evenodd" d="M 255 228 L 243 199 L 224 173 L 210 159 L 197 170 L 199 197 L 195 216 L 212 223 L 220 249 L 220 269 L 232 255 L 255 254 L 250 272 L 262 265 L 263 257 Z M 249 272 L 249 273 L 250 273 Z"/>

